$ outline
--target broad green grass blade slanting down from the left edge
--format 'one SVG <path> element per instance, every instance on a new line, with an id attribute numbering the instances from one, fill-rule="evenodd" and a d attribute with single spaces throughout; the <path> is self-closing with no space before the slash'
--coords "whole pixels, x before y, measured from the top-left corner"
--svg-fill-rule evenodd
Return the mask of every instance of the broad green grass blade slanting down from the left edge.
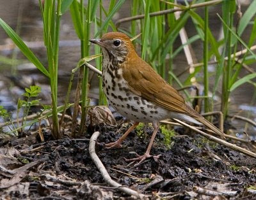
<path id="1" fill-rule="evenodd" d="M 6 34 L 8 34 L 8 36 L 12 39 L 15 45 L 19 47 L 22 54 L 24 54 L 30 62 L 35 64 L 36 68 L 39 69 L 42 73 L 44 73 L 45 76 L 49 77 L 48 71 L 44 68 L 42 63 L 37 59 L 35 54 L 31 52 L 28 46 L 22 41 L 22 39 L 20 39 L 20 37 L 16 34 L 15 31 L 13 31 L 13 29 L 3 21 L 1 17 L 0 17 L 0 25 L 3 27 Z"/>

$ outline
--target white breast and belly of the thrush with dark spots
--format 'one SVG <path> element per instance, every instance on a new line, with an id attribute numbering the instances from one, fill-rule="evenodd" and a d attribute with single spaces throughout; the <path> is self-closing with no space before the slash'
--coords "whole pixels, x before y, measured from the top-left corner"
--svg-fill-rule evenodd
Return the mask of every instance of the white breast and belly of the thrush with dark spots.
<path id="1" fill-rule="evenodd" d="M 123 78 L 122 62 L 103 50 L 102 87 L 109 104 L 130 120 L 152 122 L 163 120 L 170 112 L 132 93 Z"/>

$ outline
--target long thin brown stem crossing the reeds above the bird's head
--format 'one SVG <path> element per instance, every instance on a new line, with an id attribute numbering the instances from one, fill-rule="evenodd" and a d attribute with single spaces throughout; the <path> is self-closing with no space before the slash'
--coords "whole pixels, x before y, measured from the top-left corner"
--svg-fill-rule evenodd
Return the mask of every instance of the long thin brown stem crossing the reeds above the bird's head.
<path id="1" fill-rule="evenodd" d="M 213 1 L 207 1 L 204 3 L 197 3 L 197 4 L 192 4 L 189 6 L 184 6 L 184 8 L 172 8 L 172 9 L 168 9 L 168 10 L 161 10 L 161 11 L 156 11 L 153 13 L 149 13 L 150 17 L 154 17 L 154 16 L 158 16 L 158 15 L 166 15 L 169 13 L 175 13 L 177 11 L 185 11 L 185 10 L 189 10 L 191 8 L 199 8 L 199 7 L 204 7 L 204 6 L 210 6 L 210 5 L 214 5 L 214 4 L 218 4 L 221 3 L 223 0 L 213 0 Z M 124 23 L 124 22 L 130 22 L 133 20 L 140 20 L 141 18 L 144 18 L 145 15 L 136 15 L 136 16 L 132 16 L 132 17 L 125 17 L 125 18 L 121 18 L 120 20 L 117 20 L 115 25 L 116 27 L 118 27 L 120 24 Z"/>

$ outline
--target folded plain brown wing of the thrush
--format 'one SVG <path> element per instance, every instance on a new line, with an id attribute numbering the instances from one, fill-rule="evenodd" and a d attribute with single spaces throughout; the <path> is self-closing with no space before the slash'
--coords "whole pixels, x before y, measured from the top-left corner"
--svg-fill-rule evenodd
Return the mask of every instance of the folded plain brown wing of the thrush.
<path id="1" fill-rule="evenodd" d="M 170 111 L 188 114 L 184 98 L 140 57 L 122 65 L 124 79 L 130 90 Z"/>

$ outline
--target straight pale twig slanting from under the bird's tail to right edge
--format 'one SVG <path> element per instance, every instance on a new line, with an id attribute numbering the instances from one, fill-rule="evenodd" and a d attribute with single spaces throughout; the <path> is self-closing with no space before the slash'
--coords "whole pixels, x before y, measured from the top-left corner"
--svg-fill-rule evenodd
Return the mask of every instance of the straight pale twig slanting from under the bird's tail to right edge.
<path id="1" fill-rule="evenodd" d="M 249 150 L 246 150 L 245 148 L 242 148 L 240 146 L 237 146 L 237 145 L 234 145 L 234 144 L 231 144 L 231 143 L 228 143 L 227 141 L 223 140 L 223 139 L 220 139 L 220 138 L 216 138 L 214 136 L 211 136 L 210 134 L 207 134 L 203 131 L 200 131 L 198 129 L 196 129 L 195 127 L 193 127 L 192 125 L 188 125 L 180 120 L 177 120 L 176 118 L 173 118 L 173 120 L 175 120 L 176 122 L 179 122 L 180 124 L 186 126 L 186 127 L 189 127 L 189 129 L 192 129 L 196 132 L 198 132 L 199 134 L 201 134 L 202 136 L 204 136 L 205 138 L 211 140 L 211 141 L 214 141 L 216 143 L 219 143 L 220 145 L 224 145 L 224 146 L 227 146 L 228 148 L 231 148 L 233 150 L 236 150 L 237 152 L 240 152 L 242 154 L 245 154 L 245 155 L 249 155 L 251 157 L 254 157 L 256 158 L 256 154 L 249 151 Z"/>

